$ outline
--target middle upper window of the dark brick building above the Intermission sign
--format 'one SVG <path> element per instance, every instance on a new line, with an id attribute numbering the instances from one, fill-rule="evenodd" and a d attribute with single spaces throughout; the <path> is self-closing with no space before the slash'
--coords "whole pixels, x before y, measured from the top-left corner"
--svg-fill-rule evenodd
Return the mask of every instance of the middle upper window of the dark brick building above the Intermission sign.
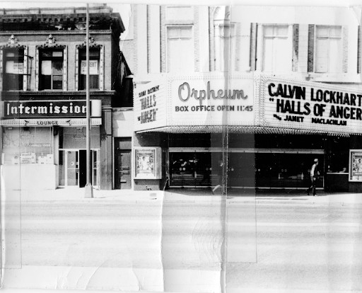
<path id="1" fill-rule="evenodd" d="M 63 50 L 40 50 L 40 90 L 63 89 Z"/>

